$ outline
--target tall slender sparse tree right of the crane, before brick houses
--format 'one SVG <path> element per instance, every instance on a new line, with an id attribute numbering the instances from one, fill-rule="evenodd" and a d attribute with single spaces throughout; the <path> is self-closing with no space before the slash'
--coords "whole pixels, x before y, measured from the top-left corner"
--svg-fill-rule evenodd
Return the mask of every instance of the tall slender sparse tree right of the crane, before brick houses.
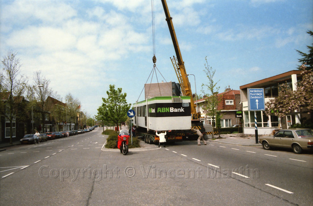
<path id="1" fill-rule="evenodd" d="M 207 111 L 207 115 L 209 115 L 210 117 L 212 117 L 213 123 L 212 123 L 212 138 L 214 138 L 214 119 L 217 115 L 218 112 L 218 103 L 219 103 L 219 99 L 218 99 L 218 91 L 220 89 L 219 86 L 217 86 L 217 83 L 220 82 L 214 82 L 214 75 L 216 70 L 209 66 L 208 62 L 207 62 L 207 57 L 205 57 L 205 63 L 204 63 L 204 67 L 205 69 L 203 70 L 206 74 L 206 77 L 208 78 L 208 83 L 204 84 L 202 83 L 202 93 L 204 96 L 206 96 L 205 98 L 205 103 L 203 104 L 203 108 Z M 205 93 L 204 88 L 208 91 L 208 93 Z"/>

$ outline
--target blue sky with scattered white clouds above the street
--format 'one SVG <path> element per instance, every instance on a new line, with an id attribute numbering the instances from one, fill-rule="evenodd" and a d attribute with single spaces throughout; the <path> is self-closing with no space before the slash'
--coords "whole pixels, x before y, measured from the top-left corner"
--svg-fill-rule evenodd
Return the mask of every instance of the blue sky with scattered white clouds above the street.
<path id="1" fill-rule="evenodd" d="M 168 0 L 192 92 L 208 93 L 205 58 L 219 92 L 297 69 L 313 30 L 312 0 Z M 0 0 L 0 57 L 17 52 L 21 74 L 36 71 L 65 102 L 91 117 L 110 84 L 127 102 L 144 100 L 146 82 L 178 82 L 161 0 Z M 155 49 L 154 49 L 155 48 Z M 154 68 L 160 72 L 149 78 Z M 142 93 L 141 93 L 142 92 Z"/>

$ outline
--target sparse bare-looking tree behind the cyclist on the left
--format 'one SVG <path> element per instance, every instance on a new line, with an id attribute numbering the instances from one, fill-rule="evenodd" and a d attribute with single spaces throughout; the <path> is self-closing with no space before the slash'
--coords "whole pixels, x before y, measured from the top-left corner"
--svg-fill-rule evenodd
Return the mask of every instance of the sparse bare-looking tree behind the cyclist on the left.
<path id="1" fill-rule="evenodd" d="M 54 92 L 51 88 L 49 88 L 50 80 L 45 79 L 41 75 L 41 71 L 36 71 L 34 73 L 34 82 L 35 85 L 31 86 L 32 92 L 35 94 L 35 100 L 37 106 L 40 108 L 41 112 L 41 122 L 43 125 L 43 132 L 45 132 L 45 116 L 47 111 L 49 111 L 53 105 L 47 104 L 46 100 L 48 97 L 56 98 L 57 93 Z"/>

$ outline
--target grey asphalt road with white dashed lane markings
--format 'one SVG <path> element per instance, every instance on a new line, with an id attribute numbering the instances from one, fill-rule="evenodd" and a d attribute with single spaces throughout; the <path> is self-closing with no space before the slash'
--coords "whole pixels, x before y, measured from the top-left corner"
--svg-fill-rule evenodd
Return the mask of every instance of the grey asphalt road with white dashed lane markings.
<path id="1" fill-rule="evenodd" d="M 313 155 L 196 141 L 128 155 L 102 128 L 0 152 L 0 205 L 311 205 Z M 105 151 L 104 151 L 105 150 Z"/>

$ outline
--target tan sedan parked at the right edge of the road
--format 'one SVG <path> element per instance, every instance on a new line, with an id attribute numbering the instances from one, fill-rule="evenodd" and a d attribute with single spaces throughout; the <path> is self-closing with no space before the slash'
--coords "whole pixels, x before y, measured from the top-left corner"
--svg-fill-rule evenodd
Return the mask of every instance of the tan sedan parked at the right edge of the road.
<path id="1" fill-rule="evenodd" d="M 313 149 L 312 129 L 282 129 L 274 136 L 259 137 L 264 149 L 271 147 L 292 148 L 293 152 L 300 154 L 303 150 Z"/>

